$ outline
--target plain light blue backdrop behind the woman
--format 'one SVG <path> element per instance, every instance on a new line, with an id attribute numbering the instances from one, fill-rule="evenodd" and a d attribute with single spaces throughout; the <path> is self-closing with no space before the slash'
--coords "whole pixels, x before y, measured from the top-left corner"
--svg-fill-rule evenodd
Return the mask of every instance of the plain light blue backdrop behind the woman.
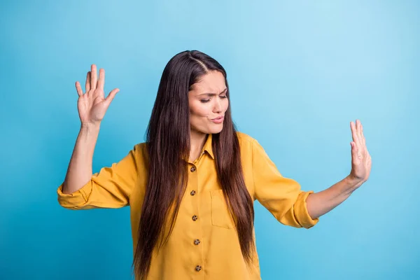
<path id="1" fill-rule="evenodd" d="M 2 1 L 0 279 L 130 279 L 130 209 L 69 211 L 64 180 L 90 64 L 119 87 L 94 172 L 144 141 L 162 70 L 201 50 L 228 72 L 239 131 L 320 191 L 369 181 L 310 230 L 255 203 L 262 279 L 420 279 L 419 1 Z"/>

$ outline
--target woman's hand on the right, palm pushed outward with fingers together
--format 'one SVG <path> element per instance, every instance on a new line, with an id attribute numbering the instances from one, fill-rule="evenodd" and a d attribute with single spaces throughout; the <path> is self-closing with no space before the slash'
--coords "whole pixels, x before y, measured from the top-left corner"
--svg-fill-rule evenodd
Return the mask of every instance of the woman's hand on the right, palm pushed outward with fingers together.
<path id="1" fill-rule="evenodd" d="M 372 168 L 372 158 L 366 148 L 365 136 L 363 135 L 363 126 L 360 120 L 356 120 L 356 125 L 350 122 L 351 135 L 351 172 L 350 178 L 355 182 L 356 187 L 361 186 L 370 175 Z"/>

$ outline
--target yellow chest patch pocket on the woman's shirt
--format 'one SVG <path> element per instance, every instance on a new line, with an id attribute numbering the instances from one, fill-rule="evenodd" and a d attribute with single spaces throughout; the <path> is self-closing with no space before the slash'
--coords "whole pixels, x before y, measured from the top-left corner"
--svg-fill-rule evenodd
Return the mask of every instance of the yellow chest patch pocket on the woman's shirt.
<path id="1" fill-rule="evenodd" d="M 235 228 L 223 190 L 211 190 L 211 224 L 221 228 Z"/>

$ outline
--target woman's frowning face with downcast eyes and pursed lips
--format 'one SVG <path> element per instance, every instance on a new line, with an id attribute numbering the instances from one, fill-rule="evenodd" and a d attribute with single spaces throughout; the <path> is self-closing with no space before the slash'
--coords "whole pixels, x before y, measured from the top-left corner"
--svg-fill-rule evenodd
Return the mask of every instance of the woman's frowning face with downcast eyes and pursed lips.
<path id="1" fill-rule="evenodd" d="M 191 132 L 217 134 L 223 129 L 223 116 L 228 110 L 223 73 L 210 71 L 188 92 Z M 217 119 L 220 118 L 221 119 Z"/>

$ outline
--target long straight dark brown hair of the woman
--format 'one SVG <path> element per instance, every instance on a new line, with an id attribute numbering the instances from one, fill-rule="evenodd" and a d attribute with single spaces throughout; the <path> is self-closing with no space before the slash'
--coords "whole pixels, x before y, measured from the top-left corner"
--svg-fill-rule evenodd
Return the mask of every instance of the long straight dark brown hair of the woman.
<path id="1" fill-rule="evenodd" d="M 209 71 L 225 76 L 223 66 L 209 55 L 197 50 L 184 51 L 169 60 L 162 73 L 158 94 L 147 128 L 148 181 L 141 209 L 137 248 L 134 252 L 134 274 L 146 279 L 153 249 L 162 246 L 165 224 L 174 227 L 181 199 L 188 183 L 190 156 L 190 109 L 188 91 Z M 242 255 L 251 262 L 253 242 L 253 201 L 246 189 L 236 127 L 230 106 L 225 112 L 223 130 L 212 135 L 218 181 L 221 183 L 228 208 L 235 217 Z M 169 214 L 171 219 L 167 220 Z M 158 242 L 160 240 L 160 242 Z M 159 244 L 158 244 L 159 243 Z"/>

